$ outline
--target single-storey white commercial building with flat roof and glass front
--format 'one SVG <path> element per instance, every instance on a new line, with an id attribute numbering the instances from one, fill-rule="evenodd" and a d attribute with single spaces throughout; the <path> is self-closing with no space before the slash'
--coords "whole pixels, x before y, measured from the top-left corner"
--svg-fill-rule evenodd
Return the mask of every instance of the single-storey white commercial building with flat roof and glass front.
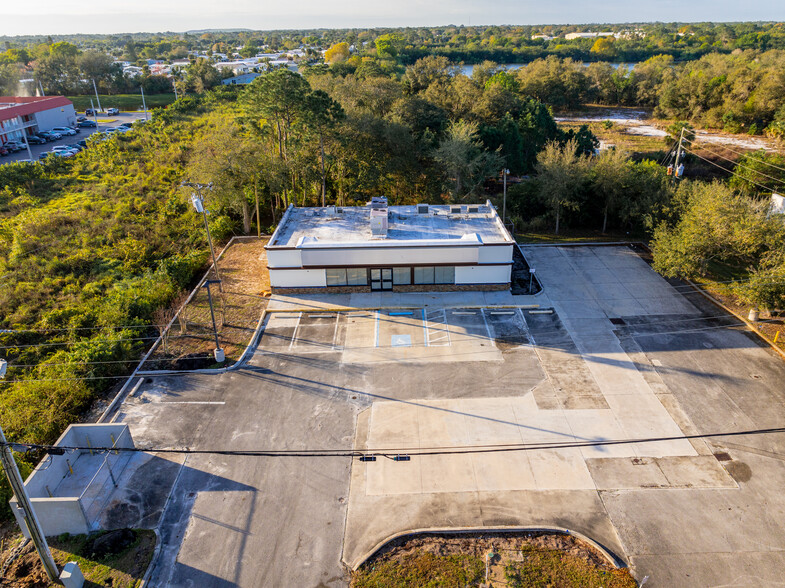
<path id="1" fill-rule="evenodd" d="M 482 205 L 290 206 L 267 244 L 273 292 L 506 290 L 514 241 Z"/>

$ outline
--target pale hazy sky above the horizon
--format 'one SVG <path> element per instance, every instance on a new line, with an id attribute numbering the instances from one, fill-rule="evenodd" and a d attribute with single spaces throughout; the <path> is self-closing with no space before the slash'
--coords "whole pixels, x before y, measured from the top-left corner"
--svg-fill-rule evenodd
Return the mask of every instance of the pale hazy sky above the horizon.
<path id="1" fill-rule="evenodd" d="M 0 0 L 2 36 L 757 20 L 785 20 L 785 0 Z"/>

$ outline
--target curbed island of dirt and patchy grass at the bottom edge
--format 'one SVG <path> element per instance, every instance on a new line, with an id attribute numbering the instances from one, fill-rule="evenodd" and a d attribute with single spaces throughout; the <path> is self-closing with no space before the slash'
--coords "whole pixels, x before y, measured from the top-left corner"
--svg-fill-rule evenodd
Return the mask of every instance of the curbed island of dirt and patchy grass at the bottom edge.
<path id="1" fill-rule="evenodd" d="M 482 564 L 480 574 L 477 562 Z M 438 578 L 427 576 L 424 568 L 429 566 L 437 570 Z M 402 537 L 352 574 L 351 586 L 400 587 L 416 582 L 430 582 L 428 586 L 637 586 L 627 569 L 610 564 L 593 546 L 571 535 L 547 532 Z"/>

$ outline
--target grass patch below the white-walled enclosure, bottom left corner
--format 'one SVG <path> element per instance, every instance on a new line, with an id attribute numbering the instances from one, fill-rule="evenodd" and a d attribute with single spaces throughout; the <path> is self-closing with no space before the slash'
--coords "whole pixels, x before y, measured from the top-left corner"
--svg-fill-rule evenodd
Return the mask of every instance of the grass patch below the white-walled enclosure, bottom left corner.
<path id="1" fill-rule="evenodd" d="M 95 535 L 63 535 L 49 540 L 52 555 L 59 566 L 69 561 L 79 564 L 84 574 L 86 587 L 112 586 L 112 588 L 136 588 L 155 550 L 155 533 L 137 529 L 136 541 L 125 551 L 104 558 L 93 558 L 87 553 Z"/>

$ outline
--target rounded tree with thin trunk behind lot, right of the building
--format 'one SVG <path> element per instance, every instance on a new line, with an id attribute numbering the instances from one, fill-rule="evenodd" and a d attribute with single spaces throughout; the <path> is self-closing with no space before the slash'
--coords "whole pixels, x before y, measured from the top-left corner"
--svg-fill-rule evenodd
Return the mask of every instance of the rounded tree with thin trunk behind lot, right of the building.
<path id="1" fill-rule="evenodd" d="M 577 209 L 589 174 L 589 158 L 577 153 L 577 143 L 551 141 L 537 155 L 537 184 L 542 201 L 555 217 L 559 234 L 562 211 Z"/>

